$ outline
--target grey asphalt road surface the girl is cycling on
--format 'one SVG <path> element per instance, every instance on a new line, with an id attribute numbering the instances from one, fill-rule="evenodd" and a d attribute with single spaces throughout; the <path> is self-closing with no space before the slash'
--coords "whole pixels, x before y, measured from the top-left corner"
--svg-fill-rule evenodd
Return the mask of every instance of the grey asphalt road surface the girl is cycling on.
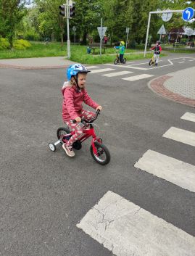
<path id="1" fill-rule="evenodd" d="M 195 193 L 188 183 L 194 145 L 166 134 L 178 128 L 194 136 L 194 122 L 181 117 L 195 111 L 147 86 L 159 75 L 194 66 L 193 59 L 173 54 L 157 68 L 145 60 L 91 67 L 87 88 L 104 108 L 96 133 L 111 154 L 106 166 L 94 162 L 90 140 L 73 159 L 62 146 L 56 152 L 48 147 L 63 126 L 65 70 L 0 69 L 0 255 L 154 256 L 157 244 L 158 255 L 194 255 Z M 154 160 L 151 170 L 147 163 Z M 167 176 L 160 176 L 161 167 Z"/>

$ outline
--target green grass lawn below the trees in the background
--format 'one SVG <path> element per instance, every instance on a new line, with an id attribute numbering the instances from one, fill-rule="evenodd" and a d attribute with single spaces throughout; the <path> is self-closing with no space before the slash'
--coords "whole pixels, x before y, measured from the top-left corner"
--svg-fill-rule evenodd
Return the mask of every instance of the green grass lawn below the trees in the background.
<path id="1" fill-rule="evenodd" d="M 16 59 L 16 58 L 31 58 L 31 57 L 57 57 L 67 56 L 67 45 L 61 46 L 60 43 L 38 43 L 30 42 L 32 47 L 25 50 L 1 50 L 0 59 Z M 133 59 L 144 59 L 143 50 L 126 49 L 125 57 L 128 61 Z M 102 51 L 103 52 L 103 51 Z M 111 55 L 109 55 L 111 54 Z M 106 49 L 106 54 L 99 55 L 99 50 L 96 54 L 87 54 L 87 47 L 80 45 L 71 45 L 71 58 L 73 62 L 80 62 L 83 64 L 101 64 L 113 62 L 115 59 L 116 50 L 113 47 Z M 165 54 L 162 54 L 162 56 Z M 146 54 L 146 59 L 152 57 L 152 54 Z"/>

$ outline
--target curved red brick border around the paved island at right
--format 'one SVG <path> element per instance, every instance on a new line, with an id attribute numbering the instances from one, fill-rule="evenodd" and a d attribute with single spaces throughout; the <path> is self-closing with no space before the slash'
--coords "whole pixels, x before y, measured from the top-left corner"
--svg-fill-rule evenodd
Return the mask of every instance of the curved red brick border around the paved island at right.
<path id="1" fill-rule="evenodd" d="M 195 107 L 195 99 L 187 98 L 185 96 L 181 96 L 180 94 L 175 94 L 173 91 L 169 91 L 167 88 L 165 88 L 165 81 L 172 77 L 173 76 L 170 75 L 162 75 L 159 78 L 154 78 L 149 81 L 148 87 L 156 94 L 159 94 L 166 99 L 170 99 L 173 102 L 178 102 L 181 104 L 186 104 L 190 107 Z"/>

